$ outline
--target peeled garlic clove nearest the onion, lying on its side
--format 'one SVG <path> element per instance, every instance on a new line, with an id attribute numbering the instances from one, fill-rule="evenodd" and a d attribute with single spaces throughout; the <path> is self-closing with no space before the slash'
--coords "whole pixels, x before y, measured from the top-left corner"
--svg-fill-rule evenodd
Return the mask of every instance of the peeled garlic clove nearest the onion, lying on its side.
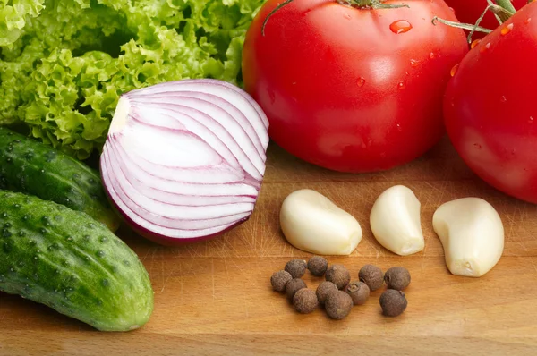
<path id="1" fill-rule="evenodd" d="M 295 248 L 320 255 L 349 255 L 362 241 L 362 227 L 354 216 L 309 189 L 287 196 L 280 225 Z"/>

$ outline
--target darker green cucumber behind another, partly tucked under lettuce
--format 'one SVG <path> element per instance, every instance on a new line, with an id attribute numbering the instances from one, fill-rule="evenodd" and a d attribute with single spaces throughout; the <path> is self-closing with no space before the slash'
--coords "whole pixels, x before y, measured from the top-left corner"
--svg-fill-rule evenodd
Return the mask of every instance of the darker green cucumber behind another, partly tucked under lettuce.
<path id="1" fill-rule="evenodd" d="M 28 193 L 83 211 L 113 232 L 120 225 L 97 171 L 4 127 L 0 127 L 0 189 Z"/>

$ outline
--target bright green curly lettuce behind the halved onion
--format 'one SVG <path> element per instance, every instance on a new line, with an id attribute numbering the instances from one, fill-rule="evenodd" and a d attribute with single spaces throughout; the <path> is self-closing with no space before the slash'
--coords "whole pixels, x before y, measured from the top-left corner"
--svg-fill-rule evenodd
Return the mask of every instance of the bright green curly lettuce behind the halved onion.
<path id="1" fill-rule="evenodd" d="M 85 159 L 119 96 L 163 81 L 240 84 L 265 0 L 0 0 L 0 124 Z"/>

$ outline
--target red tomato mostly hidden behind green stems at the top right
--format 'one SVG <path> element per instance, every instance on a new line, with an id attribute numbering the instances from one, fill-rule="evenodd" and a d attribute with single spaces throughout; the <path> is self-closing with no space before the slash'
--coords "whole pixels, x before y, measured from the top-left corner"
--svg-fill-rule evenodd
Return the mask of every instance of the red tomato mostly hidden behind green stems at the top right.
<path id="1" fill-rule="evenodd" d="M 455 10 L 456 18 L 464 23 L 475 23 L 483 11 L 487 8 L 487 0 L 445 0 L 446 4 Z M 494 1 L 496 3 L 496 1 Z M 516 10 L 522 8 L 528 3 L 528 0 L 511 0 Z M 494 30 L 499 26 L 498 20 L 493 13 L 488 12 L 483 18 L 480 26 L 485 29 Z M 482 32 L 475 32 L 472 38 L 482 38 L 485 36 Z"/>

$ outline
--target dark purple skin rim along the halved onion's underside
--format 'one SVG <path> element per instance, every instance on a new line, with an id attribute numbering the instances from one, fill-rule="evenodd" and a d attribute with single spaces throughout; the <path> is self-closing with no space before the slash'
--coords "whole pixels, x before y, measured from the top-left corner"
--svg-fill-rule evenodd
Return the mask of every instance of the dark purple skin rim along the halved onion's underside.
<path id="1" fill-rule="evenodd" d="M 101 179 L 103 179 L 101 174 Z M 229 230 L 234 229 L 238 225 L 242 225 L 244 222 L 248 221 L 250 219 L 250 216 L 246 216 L 243 219 L 237 221 L 234 225 L 230 225 L 229 227 L 226 227 L 226 229 L 222 230 L 218 233 L 212 233 L 210 235 L 206 236 L 200 236 L 200 237 L 194 237 L 194 238 L 173 238 L 165 235 L 161 235 L 159 233 L 153 233 L 152 231 L 149 231 L 145 227 L 142 227 L 141 225 L 136 224 L 132 219 L 123 213 L 122 209 L 115 204 L 114 199 L 110 196 L 110 193 L 108 192 L 108 187 L 103 184 L 105 187 L 105 192 L 107 193 L 107 198 L 110 201 L 110 204 L 112 205 L 112 208 L 115 210 L 118 216 L 121 216 L 124 223 L 128 225 L 134 233 L 139 234 L 141 237 L 151 241 L 158 243 L 159 245 L 168 246 L 168 247 L 174 247 L 174 246 L 182 246 L 187 244 L 192 244 L 194 242 L 204 242 L 211 239 L 214 239 L 215 237 L 218 237 L 224 233 L 226 233 Z"/>

